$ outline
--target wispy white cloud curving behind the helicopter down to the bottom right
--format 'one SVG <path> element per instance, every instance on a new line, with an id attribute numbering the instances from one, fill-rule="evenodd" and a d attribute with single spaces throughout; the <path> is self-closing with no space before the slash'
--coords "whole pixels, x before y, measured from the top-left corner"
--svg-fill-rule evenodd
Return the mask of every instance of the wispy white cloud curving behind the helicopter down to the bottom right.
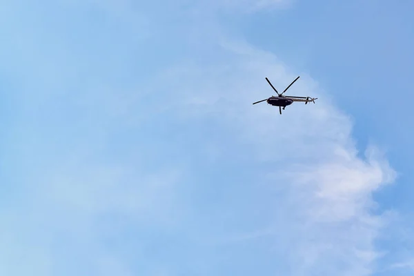
<path id="1" fill-rule="evenodd" d="M 244 145 L 245 155 L 272 164 L 257 181 L 281 191 L 268 223 L 276 250 L 295 266 L 291 275 L 371 275 L 381 255 L 375 240 L 387 223 L 386 216 L 373 215 L 372 195 L 395 172 L 375 147 L 368 148 L 366 159 L 357 155 L 351 120 L 306 75 L 289 94 L 319 97 L 317 104 L 294 103 L 282 116 L 266 103 L 252 106 L 271 95 L 264 77 L 284 88 L 296 74 L 270 53 L 227 49 L 226 59 L 217 53 L 215 66 L 186 63 L 159 77 L 177 91 L 166 96 L 171 112 L 180 110 L 181 119 L 215 118 Z M 257 233 L 269 235 L 267 228 L 239 235 L 254 239 Z"/>

